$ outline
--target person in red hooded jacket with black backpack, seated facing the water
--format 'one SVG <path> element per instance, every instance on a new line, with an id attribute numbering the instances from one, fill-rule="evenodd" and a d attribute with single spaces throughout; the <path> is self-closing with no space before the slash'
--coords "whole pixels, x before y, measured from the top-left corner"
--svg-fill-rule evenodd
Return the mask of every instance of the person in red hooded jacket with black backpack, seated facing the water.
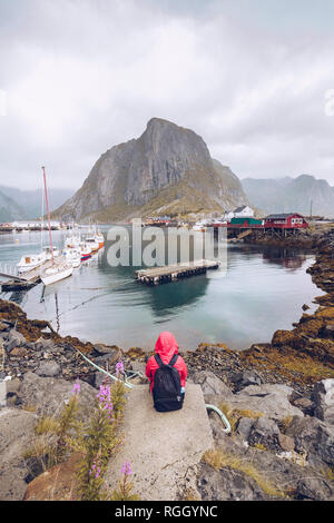
<path id="1" fill-rule="evenodd" d="M 178 411 L 184 404 L 187 366 L 171 333 L 160 333 L 155 352 L 146 365 L 154 406 L 158 412 Z"/>

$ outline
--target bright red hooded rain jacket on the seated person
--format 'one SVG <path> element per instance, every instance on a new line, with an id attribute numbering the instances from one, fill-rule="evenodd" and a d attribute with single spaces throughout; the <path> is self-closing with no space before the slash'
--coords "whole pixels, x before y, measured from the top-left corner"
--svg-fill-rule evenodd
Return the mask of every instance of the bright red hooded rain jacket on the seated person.
<path id="1" fill-rule="evenodd" d="M 173 358 L 174 354 L 178 354 L 178 345 L 173 334 L 168 332 L 161 333 L 157 339 L 155 351 L 156 351 L 156 354 L 160 355 L 160 358 L 163 359 L 163 362 L 165 364 L 168 364 L 170 359 Z M 186 377 L 187 377 L 187 367 L 181 356 L 178 356 L 174 367 L 179 373 L 181 387 L 185 387 Z M 156 374 L 157 368 L 159 368 L 159 365 L 157 364 L 156 358 L 151 356 L 146 364 L 146 373 L 145 373 L 150 383 L 150 392 L 153 391 L 154 379 L 155 379 L 155 374 Z"/>

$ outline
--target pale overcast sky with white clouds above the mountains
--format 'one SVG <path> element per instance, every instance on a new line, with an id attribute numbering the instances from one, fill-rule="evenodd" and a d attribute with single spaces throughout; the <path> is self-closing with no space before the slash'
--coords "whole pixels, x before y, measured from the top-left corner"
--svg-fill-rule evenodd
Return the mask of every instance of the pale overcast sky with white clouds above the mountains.
<path id="1" fill-rule="evenodd" d="M 0 0 L 0 185 L 77 189 L 151 117 L 334 185 L 333 0 Z"/>

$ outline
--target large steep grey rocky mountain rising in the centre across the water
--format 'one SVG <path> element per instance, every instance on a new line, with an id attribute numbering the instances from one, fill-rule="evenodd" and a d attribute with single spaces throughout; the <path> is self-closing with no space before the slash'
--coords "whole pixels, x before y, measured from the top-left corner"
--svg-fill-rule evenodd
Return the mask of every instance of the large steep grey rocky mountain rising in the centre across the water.
<path id="1" fill-rule="evenodd" d="M 114 146 L 56 213 L 65 220 L 228 209 L 247 203 L 240 181 L 189 129 L 153 118 L 138 139 Z"/>

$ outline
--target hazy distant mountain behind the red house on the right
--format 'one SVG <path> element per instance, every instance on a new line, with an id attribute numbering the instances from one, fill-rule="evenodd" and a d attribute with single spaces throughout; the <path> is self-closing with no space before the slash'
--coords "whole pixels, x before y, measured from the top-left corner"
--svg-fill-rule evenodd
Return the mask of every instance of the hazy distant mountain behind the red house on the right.
<path id="1" fill-rule="evenodd" d="M 242 180 L 250 204 L 266 213 L 296 211 L 334 218 L 334 187 L 310 175 L 297 178 Z"/>

